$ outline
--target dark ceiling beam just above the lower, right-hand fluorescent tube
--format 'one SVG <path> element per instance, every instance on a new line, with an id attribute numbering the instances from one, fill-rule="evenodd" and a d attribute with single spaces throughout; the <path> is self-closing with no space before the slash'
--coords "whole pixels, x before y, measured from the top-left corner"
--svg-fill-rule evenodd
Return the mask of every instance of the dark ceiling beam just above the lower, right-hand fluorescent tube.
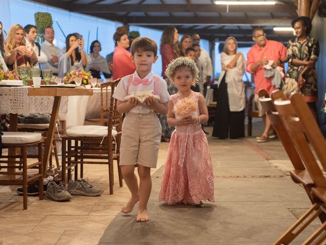
<path id="1" fill-rule="evenodd" d="M 100 17 L 99 15 L 97 15 Z M 127 16 L 124 19 L 128 24 L 157 26 L 158 24 L 180 26 L 184 24 L 197 25 L 231 25 L 231 26 L 290 26 L 291 18 L 267 18 L 263 17 L 143 17 Z"/>

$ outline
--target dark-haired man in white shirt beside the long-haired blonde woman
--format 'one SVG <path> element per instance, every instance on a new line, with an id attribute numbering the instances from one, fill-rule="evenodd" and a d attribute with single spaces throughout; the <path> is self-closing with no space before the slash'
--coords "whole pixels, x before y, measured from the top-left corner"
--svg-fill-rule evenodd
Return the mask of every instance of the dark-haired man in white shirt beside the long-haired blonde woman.
<path id="1" fill-rule="evenodd" d="M 25 31 L 25 41 L 26 46 L 32 50 L 34 50 L 36 57 L 37 57 L 37 63 L 33 66 L 33 68 L 40 68 L 39 63 L 46 63 L 47 57 L 44 54 L 43 51 L 41 51 L 41 46 L 38 42 L 35 42 L 36 40 L 36 26 L 33 26 L 33 24 L 28 24 L 24 27 Z"/>

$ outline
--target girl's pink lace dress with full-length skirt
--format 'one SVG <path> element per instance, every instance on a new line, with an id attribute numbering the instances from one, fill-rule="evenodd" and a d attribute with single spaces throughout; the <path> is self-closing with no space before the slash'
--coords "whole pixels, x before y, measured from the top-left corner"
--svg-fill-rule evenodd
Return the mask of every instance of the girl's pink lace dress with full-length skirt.
<path id="1" fill-rule="evenodd" d="M 200 93 L 192 100 L 198 103 Z M 171 95 L 175 105 L 176 94 Z M 199 115 L 199 110 L 194 112 Z M 176 118 L 178 118 L 176 116 Z M 201 125 L 176 127 L 172 133 L 158 201 L 168 204 L 214 202 L 213 169 Z"/>

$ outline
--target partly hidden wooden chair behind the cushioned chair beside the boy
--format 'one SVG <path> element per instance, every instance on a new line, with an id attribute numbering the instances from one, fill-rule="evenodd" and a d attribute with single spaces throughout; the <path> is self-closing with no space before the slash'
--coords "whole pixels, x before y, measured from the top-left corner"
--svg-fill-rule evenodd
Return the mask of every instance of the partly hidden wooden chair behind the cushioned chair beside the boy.
<path id="1" fill-rule="evenodd" d="M 88 121 L 93 121 L 101 126 L 107 125 L 108 114 L 110 113 L 110 97 L 113 92 L 110 87 L 107 87 L 106 83 L 100 84 L 100 118 L 90 118 Z"/>

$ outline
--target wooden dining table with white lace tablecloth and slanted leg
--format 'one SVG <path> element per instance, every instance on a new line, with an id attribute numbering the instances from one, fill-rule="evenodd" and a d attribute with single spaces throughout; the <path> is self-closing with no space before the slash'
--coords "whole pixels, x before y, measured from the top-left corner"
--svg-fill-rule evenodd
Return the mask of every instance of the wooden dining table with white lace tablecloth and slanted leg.
<path id="1" fill-rule="evenodd" d="M 93 90 L 66 86 L 30 86 L 0 87 L 0 114 L 10 114 L 9 131 L 16 132 L 18 128 L 18 114 L 50 113 L 49 129 L 44 146 L 44 177 L 46 177 L 49 159 L 51 157 L 52 141 L 56 130 L 59 110 L 68 108 L 68 96 L 89 96 Z M 64 102 L 61 104 L 61 102 Z M 14 154 L 16 149 L 9 149 Z M 11 168 L 8 171 L 15 171 Z M 14 173 L 14 172 L 13 172 Z M 17 184 L 17 180 L 0 180 L 0 184 Z"/>

